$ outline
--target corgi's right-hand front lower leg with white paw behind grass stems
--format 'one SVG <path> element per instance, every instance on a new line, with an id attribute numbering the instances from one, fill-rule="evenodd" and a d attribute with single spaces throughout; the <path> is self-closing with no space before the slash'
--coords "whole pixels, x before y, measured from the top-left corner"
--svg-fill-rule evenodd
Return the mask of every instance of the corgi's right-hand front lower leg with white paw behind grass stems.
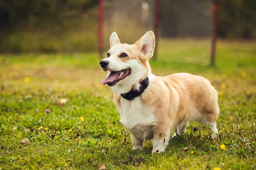
<path id="1" fill-rule="evenodd" d="M 152 140 L 153 150 L 152 153 L 164 152 L 168 146 L 170 139 L 170 129 L 168 130 L 156 130 Z"/>

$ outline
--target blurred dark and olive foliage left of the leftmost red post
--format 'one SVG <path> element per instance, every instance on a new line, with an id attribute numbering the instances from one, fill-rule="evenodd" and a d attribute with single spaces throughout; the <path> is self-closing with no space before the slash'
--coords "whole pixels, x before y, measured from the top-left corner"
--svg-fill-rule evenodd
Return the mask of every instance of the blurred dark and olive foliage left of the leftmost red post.
<path id="1" fill-rule="evenodd" d="M 0 52 L 96 49 L 96 0 L 1 0 Z"/>

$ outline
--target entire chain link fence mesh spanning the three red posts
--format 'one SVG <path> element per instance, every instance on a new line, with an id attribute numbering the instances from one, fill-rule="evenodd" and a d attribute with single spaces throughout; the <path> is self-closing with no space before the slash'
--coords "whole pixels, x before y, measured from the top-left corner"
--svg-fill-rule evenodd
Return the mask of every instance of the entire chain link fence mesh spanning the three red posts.
<path id="1" fill-rule="evenodd" d="M 105 0 L 104 48 L 109 49 L 113 31 L 122 43 L 132 44 L 146 31 L 154 31 L 158 21 L 160 49 L 166 41 L 176 41 L 180 46 L 191 42 L 195 46 L 204 44 L 202 54 L 209 56 L 213 4 L 212 0 L 160 0 L 159 18 L 156 18 L 156 0 Z"/>

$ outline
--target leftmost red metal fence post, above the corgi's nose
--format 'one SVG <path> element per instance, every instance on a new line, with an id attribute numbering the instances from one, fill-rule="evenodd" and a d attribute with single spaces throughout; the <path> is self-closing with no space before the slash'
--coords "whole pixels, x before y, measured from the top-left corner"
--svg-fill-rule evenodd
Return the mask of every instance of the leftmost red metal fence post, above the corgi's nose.
<path id="1" fill-rule="evenodd" d="M 100 58 L 102 58 L 103 51 L 104 51 L 104 43 L 103 43 L 104 1 L 105 0 L 99 0 L 98 48 L 99 48 L 99 57 Z"/>

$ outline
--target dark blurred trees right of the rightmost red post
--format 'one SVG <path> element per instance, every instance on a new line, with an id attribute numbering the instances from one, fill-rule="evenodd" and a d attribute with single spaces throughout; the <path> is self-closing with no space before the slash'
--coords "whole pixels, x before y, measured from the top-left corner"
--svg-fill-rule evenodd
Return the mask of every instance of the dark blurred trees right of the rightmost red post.
<path id="1" fill-rule="evenodd" d="M 256 37 L 255 0 L 219 0 L 217 2 L 219 37 Z"/>

